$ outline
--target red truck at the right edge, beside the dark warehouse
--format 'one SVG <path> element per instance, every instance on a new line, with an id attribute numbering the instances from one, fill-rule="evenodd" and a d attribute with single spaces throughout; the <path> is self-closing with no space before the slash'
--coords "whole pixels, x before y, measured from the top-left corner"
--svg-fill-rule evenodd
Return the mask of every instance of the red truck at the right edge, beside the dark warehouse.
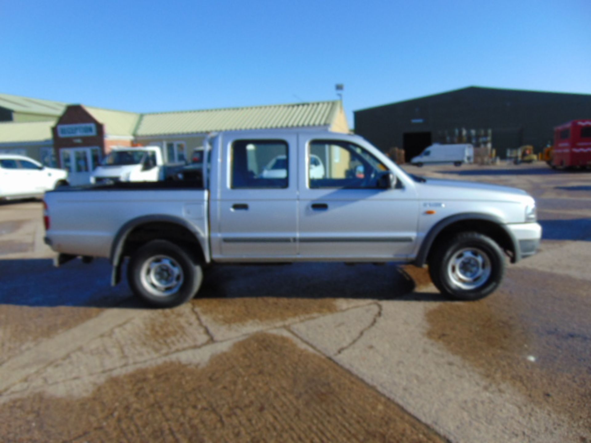
<path id="1" fill-rule="evenodd" d="M 591 168 L 591 119 L 554 128 L 553 167 Z"/>

